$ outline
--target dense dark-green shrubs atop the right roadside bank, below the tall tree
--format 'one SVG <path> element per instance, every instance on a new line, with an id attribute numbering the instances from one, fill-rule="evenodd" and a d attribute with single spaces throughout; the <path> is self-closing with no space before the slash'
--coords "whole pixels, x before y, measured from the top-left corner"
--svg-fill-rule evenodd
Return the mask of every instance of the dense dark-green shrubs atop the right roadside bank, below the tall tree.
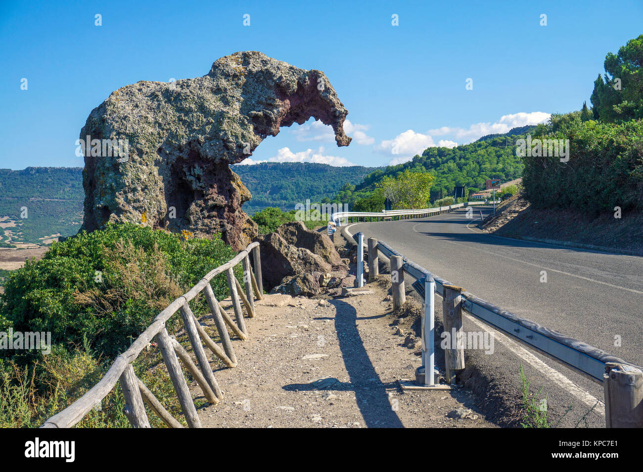
<path id="1" fill-rule="evenodd" d="M 569 139 L 568 162 L 523 157 L 525 198 L 536 208 L 574 207 L 593 214 L 616 206 L 643 209 L 643 121 L 600 124 L 573 115 L 552 123 L 547 135 Z"/>

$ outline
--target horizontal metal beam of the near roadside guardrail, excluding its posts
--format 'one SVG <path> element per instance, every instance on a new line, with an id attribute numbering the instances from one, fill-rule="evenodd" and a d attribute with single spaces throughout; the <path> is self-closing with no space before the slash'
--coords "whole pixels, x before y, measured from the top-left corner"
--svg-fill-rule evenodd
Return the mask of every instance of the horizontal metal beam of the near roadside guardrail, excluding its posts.
<path id="1" fill-rule="evenodd" d="M 440 297 L 444 296 L 443 286 L 452 285 L 449 281 L 435 274 L 431 274 L 431 272 L 425 268 L 405 258 L 402 254 L 399 254 L 399 252 L 382 241 L 377 242 L 377 251 L 389 259 L 391 256 L 400 256 L 404 263 L 404 272 L 415 279 L 422 279 L 425 275 L 432 277 L 435 280 L 435 293 L 440 295 Z M 425 294 L 422 288 L 417 290 L 421 285 L 422 284 L 415 286 L 414 284 L 413 287 L 424 300 Z M 565 365 L 597 383 L 603 383 L 607 363 L 630 365 L 643 370 L 643 367 L 612 356 L 597 347 L 567 337 L 553 329 L 545 328 L 545 326 L 541 326 L 534 321 L 511 313 L 511 311 L 503 310 L 503 308 L 499 306 L 476 297 L 473 293 L 462 292 L 462 298 L 462 308 L 469 313 L 469 315 L 498 329 L 498 331 L 502 331 L 502 333 L 514 340 L 529 345 L 529 347 L 539 353 L 545 354 L 548 358 Z"/>

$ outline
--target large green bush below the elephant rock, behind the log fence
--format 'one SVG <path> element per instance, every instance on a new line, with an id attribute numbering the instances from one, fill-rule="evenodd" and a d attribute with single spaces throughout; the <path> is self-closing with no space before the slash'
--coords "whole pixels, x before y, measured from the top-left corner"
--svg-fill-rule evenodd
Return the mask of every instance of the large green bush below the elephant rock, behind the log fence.
<path id="1" fill-rule="evenodd" d="M 0 328 L 50 331 L 52 344 L 68 350 L 86 338 L 99 355 L 111 358 L 167 304 L 235 254 L 218 237 L 184 240 L 133 224 L 81 232 L 6 278 Z M 213 279 L 212 288 L 218 297 L 228 295 L 224 274 Z M 199 298 L 195 310 L 198 303 L 204 308 Z M 28 360 L 33 354 L 23 355 Z"/>

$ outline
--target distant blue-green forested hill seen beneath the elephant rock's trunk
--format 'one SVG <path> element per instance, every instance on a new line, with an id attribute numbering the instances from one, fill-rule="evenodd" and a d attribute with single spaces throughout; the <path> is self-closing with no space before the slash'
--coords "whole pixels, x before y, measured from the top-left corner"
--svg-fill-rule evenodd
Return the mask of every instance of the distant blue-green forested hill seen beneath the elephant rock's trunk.
<path id="1" fill-rule="evenodd" d="M 264 162 L 230 166 L 248 187 L 252 199 L 243 205 L 248 214 L 266 207 L 292 210 L 298 203 L 332 198 L 349 182 L 358 184 L 374 167 L 335 167 L 311 162 Z"/>

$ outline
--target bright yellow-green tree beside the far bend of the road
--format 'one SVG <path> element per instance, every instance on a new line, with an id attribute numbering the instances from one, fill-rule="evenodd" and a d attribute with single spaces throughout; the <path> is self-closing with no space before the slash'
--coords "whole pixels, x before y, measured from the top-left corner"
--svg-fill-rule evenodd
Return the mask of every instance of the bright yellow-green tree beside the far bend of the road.
<path id="1" fill-rule="evenodd" d="M 395 177 L 383 177 L 376 186 L 391 200 L 392 209 L 419 209 L 428 205 L 433 180 L 435 177 L 424 170 L 406 169 Z"/>

